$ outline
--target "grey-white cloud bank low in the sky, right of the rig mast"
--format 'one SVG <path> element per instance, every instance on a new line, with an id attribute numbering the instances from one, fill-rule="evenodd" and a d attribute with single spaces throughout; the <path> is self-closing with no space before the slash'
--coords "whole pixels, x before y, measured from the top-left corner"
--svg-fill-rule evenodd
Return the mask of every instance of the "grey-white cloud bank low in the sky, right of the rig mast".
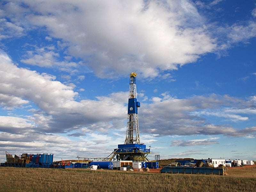
<path id="1" fill-rule="evenodd" d="M 166 94 L 152 99 L 152 103 L 143 110 L 145 127 L 140 130 L 160 135 L 226 135 L 244 137 L 248 134 L 255 135 L 254 128 L 236 129 L 225 124 L 225 120 L 246 121 L 235 111 L 228 112 L 228 106 L 237 106 L 237 109 L 250 109 L 252 101 L 243 101 L 230 96 L 212 94 L 207 97 L 195 96 L 188 99 L 172 98 Z M 226 106 L 226 107 L 223 107 Z M 157 113 L 151 111 L 157 110 Z M 159 110 L 161 109 L 161 110 Z M 205 111 L 211 109 L 212 113 Z M 234 109 L 234 108 L 233 108 Z M 247 114 L 254 114 L 255 110 L 247 110 Z M 209 116 L 208 116 L 209 115 Z M 211 122 L 213 116 L 222 118 L 222 124 Z M 244 132 L 248 129 L 248 132 Z"/>

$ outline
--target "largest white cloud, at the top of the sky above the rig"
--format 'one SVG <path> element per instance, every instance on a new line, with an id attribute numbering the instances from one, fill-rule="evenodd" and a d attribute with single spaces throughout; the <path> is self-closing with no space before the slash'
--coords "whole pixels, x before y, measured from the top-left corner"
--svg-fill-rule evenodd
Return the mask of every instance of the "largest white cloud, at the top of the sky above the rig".
<path id="1" fill-rule="evenodd" d="M 26 13 L 22 23 L 45 27 L 50 33 L 47 40 L 66 42 L 67 52 L 86 61 L 100 77 L 116 71 L 124 74 L 134 65 L 142 76 L 156 77 L 216 48 L 204 17 L 187 0 L 38 2 L 8 6 L 22 7 L 20 11 Z M 22 62 L 51 66 L 55 56 L 49 51 L 33 54 Z"/>

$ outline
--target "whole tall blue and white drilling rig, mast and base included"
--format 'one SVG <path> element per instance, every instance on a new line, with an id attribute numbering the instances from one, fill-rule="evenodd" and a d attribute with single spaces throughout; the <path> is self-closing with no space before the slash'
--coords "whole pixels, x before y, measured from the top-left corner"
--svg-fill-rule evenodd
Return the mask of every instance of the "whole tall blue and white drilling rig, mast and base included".
<path id="1" fill-rule="evenodd" d="M 136 90 L 136 76 L 137 74 L 130 74 L 130 88 L 128 100 L 128 116 L 127 116 L 127 130 L 124 144 L 118 145 L 108 160 L 111 161 L 115 156 L 117 160 L 133 161 L 133 162 L 147 162 L 149 161 L 147 155 L 150 154 L 150 149 L 146 145 L 140 143 L 139 135 L 139 120 L 138 108 L 140 102 L 137 101 Z"/>

